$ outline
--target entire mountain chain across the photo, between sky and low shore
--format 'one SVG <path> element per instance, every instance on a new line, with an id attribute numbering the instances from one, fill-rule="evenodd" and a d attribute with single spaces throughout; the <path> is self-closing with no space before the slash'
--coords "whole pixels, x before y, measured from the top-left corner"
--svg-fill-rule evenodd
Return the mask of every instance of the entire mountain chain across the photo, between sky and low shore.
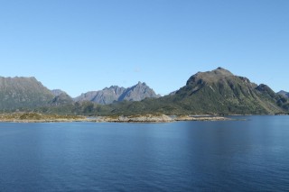
<path id="1" fill-rule="evenodd" d="M 49 90 L 35 78 L 0 78 L 2 111 L 35 110 L 60 114 L 288 114 L 288 93 L 276 94 L 227 69 L 198 72 L 168 96 L 145 83 L 106 87 L 71 98 Z"/>

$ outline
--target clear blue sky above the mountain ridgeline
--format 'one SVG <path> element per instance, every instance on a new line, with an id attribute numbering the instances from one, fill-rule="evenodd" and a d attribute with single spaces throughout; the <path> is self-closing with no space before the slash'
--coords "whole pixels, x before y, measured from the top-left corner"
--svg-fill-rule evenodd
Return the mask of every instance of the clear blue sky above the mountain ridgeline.
<path id="1" fill-rule="evenodd" d="M 71 96 L 218 67 L 289 91 L 289 1 L 0 0 L 0 66 Z"/>

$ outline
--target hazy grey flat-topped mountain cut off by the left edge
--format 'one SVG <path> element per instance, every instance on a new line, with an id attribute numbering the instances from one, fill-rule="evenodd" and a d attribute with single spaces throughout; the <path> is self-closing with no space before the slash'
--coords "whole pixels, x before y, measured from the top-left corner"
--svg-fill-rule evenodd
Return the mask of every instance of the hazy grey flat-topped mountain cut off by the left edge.
<path id="1" fill-rule="evenodd" d="M 36 78 L 0 77 L 0 110 L 31 109 L 47 105 L 53 99 L 51 91 Z"/>

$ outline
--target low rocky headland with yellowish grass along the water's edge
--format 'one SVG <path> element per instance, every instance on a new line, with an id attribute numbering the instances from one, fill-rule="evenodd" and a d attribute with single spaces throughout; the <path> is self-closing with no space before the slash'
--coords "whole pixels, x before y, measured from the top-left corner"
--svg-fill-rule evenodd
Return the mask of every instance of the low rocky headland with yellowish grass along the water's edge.
<path id="1" fill-rule="evenodd" d="M 110 123 L 170 123 L 177 121 L 226 121 L 225 116 L 215 115 L 166 115 L 135 114 L 113 116 L 84 116 L 66 114 L 11 113 L 0 114 L 0 122 L 9 123 L 65 123 L 65 122 L 110 122 Z"/>

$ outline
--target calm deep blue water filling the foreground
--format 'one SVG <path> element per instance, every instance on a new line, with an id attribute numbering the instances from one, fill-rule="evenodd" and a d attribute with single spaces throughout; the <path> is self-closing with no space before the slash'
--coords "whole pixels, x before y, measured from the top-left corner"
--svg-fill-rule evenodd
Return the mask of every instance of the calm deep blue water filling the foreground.
<path id="1" fill-rule="evenodd" d="M 245 118 L 0 123 L 0 191 L 289 190 L 289 116 Z"/>

